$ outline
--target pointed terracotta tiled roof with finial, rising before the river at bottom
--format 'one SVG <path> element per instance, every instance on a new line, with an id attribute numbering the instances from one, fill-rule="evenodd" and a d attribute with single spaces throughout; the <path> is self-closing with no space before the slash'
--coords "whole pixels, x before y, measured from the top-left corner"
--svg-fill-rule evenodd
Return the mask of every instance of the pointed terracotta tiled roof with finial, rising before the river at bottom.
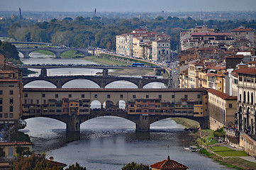
<path id="1" fill-rule="evenodd" d="M 167 159 L 161 162 L 150 165 L 150 167 L 155 169 L 188 169 L 187 166 L 184 166 L 179 162 L 169 159 L 169 156 L 167 157 Z"/>

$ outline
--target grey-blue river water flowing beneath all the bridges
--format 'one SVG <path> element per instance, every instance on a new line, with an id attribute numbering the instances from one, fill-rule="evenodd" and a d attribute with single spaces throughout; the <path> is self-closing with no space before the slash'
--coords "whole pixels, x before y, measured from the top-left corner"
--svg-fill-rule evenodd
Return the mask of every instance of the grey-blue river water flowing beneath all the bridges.
<path id="1" fill-rule="evenodd" d="M 87 64 L 79 59 L 58 59 L 33 53 L 32 59 L 23 59 L 25 64 Z M 96 69 L 50 69 L 52 75 L 96 74 Z M 80 80 L 79 83 L 81 83 Z M 71 81 L 70 81 L 71 82 Z M 66 84 L 66 87 L 77 86 L 77 81 Z M 95 87 L 95 84 L 84 81 L 82 87 Z M 126 81 L 110 84 L 108 88 L 123 87 L 136 88 Z M 26 87 L 50 87 L 52 84 L 33 82 Z M 81 86 L 77 86 L 81 87 Z M 96 87 L 97 88 L 97 87 Z M 162 84 L 150 84 L 147 88 L 164 88 Z M 65 123 L 50 118 L 30 118 L 27 127 L 22 132 L 28 134 L 34 142 L 36 153 L 46 152 L 46 157 L 54 157 L 57 162 L 74 164 L 78 162 L 89 170 L 117 170 L 128 162 L 135 161 L 143 164 L 171 159 L 189 167 L 189 169 L 228 169 L 226 166 L 213 162 L 202 154 L 189 152 L 194 140 L 189 132 L 184 131 L 182 125 L 173 120 L 160 120 L 150 125 L 150 132 L 135 132 L 135 124 L 129 120 L 111 116 L 87 120 L 81 125 L 80 140 L 66 143 Z M 167 146 L 169 145 L 169 149 Z"/>

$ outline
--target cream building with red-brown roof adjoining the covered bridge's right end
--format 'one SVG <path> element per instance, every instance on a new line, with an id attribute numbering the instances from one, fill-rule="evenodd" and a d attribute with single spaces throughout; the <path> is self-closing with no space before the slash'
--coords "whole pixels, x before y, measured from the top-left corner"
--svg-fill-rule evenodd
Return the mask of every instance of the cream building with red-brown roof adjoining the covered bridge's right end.
<path id="1" fill-rule="evenodd" d="M 229 96 L 215 89 L 208 89 L 208 113 L 211 130 L 235 125 L 238 97 Z"/>

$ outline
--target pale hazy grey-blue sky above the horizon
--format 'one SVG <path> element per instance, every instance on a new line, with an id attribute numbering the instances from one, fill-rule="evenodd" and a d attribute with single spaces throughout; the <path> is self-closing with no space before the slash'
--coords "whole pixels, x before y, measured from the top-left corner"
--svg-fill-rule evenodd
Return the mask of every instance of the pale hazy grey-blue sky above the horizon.
<path id="1" fill-rule="evenodd" d="M 1 0 L 0 11 L 255 11 L 256 0 Z"/>

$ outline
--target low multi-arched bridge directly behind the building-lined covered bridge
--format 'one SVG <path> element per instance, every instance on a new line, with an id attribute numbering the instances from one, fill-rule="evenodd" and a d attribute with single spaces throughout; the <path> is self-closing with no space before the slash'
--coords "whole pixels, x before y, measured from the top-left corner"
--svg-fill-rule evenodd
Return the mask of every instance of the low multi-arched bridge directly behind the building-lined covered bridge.
<path id="1" fill-rule="evenodd" d="M 169 86 L 169 84 L 172 83 L 169 81 L 169 79 L 141 79 L 141 78 L 135 78 L 135 77 L 101 77 L 101 76 L 79 75 L 79 76 L 56 76 L 56 77 L 23 77 L 23 85 L 25 86 L 26 84 L 32 81 L 43 80 L 43 81 L 48 81 L 54 84 L 57 88 L 62 88 L 64 84 L 74 79 L 88 79 L 98 84 L 101 88 L 105 88 L 106 85 L 112 83 L 113 81 L 121 81 L 121 80 L 129 81 L 135 84 L 136 86 L 138 86 L 138 89 L 143 89 L 143 86 L 152 82 L 160 82 L 165 84 L 166 86 Z"/>

